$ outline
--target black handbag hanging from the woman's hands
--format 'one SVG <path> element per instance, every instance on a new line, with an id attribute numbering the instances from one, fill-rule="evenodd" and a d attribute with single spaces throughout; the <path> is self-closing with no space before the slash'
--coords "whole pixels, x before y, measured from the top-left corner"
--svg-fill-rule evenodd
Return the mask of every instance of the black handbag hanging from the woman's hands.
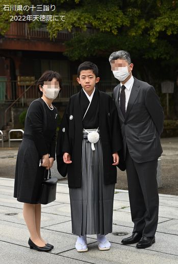
<path id="1" fill-rule="evenodd" d="M 46 173 L 47 172 L 47 173 Z M 48 171 L 45 169 L 44 173 L 44 181 L 42 181 L 42 191 L 39 200 L 39 204 L 46 205 L 56 200 L 56 187 L 58 179 L 56 177 L 52 177 L 49 169 L 49 177 Z"/>

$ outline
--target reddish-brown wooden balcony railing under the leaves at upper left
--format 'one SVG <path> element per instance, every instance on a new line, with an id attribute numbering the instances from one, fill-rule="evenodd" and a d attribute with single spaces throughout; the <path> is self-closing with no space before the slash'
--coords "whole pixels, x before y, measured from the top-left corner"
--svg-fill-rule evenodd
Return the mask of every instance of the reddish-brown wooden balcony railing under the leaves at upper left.
<path id="1" fill-rule="evenodd" d="M 17 39 L 31 39 L 31 40 L 49 40 L 49 33 L 46 28 L 31 29 L 30 23 L 14 21 L 10 24 L 10 29 L 6 32 L 6 38 L 17 38 Z M 3 37 L 3 36 L 1 36 Z M 59 32 L 57 38 L 53 39 L 55 42 L 62 42 L 72 37 L 69 32 Z"/>

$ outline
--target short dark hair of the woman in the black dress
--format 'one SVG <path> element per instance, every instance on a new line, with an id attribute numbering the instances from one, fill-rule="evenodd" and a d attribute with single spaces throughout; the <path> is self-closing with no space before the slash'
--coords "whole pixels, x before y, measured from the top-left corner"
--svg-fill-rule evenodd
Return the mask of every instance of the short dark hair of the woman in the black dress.
<path id="1" fill-rule="evenodd" d="M 47 70 L 41 75 L 41 77 L 37 81 L 37 89 L 41 96 L 43 95 L 43 93 L 40 91 L 39 85 L 43 85 L 44 81 L 52 81 L 53 78 L 56 78 L 57 81 L 59 81 L 60 89 L 62 88 L 61 87 L 61 82 L 62 82 L 61 75 L 58 72 Z"/>

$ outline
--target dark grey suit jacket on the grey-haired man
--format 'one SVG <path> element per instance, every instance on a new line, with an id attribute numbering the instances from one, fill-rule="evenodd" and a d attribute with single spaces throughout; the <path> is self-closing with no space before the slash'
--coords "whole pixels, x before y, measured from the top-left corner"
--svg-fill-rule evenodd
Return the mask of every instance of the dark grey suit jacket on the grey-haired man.
<path id="1" fill-rule="evenodd" d="M 126 147 L 135 162 L 158 159 L 162 153 L 160 135 L 163 131 L 164 113 L 153 86 L 134 78 L 125 118 L 119 106 L 120 84 L 114 88 L 123 138 L 123 157 Z"/>

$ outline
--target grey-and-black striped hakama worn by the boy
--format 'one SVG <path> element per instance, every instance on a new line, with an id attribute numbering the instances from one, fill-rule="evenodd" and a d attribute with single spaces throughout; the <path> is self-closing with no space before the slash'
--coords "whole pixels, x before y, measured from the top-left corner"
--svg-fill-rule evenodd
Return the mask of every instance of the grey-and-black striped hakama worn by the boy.
<path id="1" fill-rule="evenodd" d="M 69 188 L 72 233 L 79 236 L 112 232 L 115 185 L 104 184 L 100 139 L 94 147 L 92 150 L 87 133 L 83 131 L 82 184 L 81 188 Z"/>

